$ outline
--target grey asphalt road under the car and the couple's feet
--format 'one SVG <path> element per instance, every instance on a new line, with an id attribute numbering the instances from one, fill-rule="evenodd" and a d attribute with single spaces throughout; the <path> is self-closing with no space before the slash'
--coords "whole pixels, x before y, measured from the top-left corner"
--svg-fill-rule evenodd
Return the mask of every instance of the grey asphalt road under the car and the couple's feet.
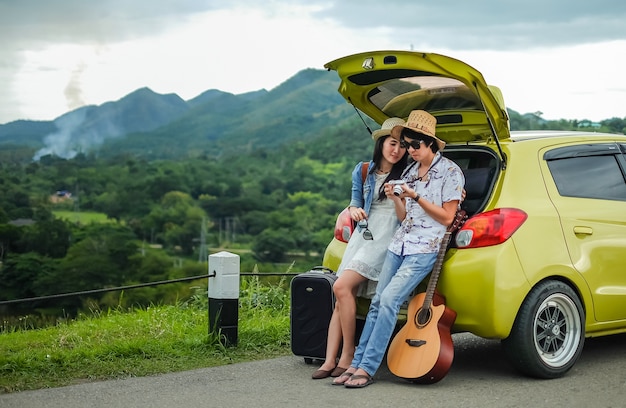
<path id="1" fill-rule="evenodd" d="M 154 377 L 0 395 L 0 408 L 550 407 L 626 406 L 626 335 L 587 339 L 563 378 L 536 380 L 508 365 L 498 341 L 453 336 L 455 356 L 436 384 L 399 379 L 385 366 L 364 389 L 311 380 L 317 365 L 287 356 Z"/>

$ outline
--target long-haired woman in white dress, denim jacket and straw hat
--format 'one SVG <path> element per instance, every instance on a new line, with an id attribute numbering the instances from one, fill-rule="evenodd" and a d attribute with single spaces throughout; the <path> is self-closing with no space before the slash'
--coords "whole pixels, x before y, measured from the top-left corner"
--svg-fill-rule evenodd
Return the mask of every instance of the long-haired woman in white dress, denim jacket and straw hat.
<path id="1" fill-rule="evenodd" d="M 374 153 L 365 182 L 361 175 L 363 162 L 352 172 L 349 211 L 352 220 L 360 221 L 360 226 L 350 238 L 337 270 L 339 278 L 333 285 L 336 302 L 328 327 L 326 359 L 313 373 L 313 379 L 341 375 L 354 356 L 356 296 L 373 296 L 387 246 L 399 225 L 394 203 L 387 199 L 384 184 L 398 179 L 406 167 L 406 148 L 400 145 L 398 136 L 391 136 L 391 129 L 402 124 L 404 121 L 400 118 L 389 118 L 372 133 Z"/>

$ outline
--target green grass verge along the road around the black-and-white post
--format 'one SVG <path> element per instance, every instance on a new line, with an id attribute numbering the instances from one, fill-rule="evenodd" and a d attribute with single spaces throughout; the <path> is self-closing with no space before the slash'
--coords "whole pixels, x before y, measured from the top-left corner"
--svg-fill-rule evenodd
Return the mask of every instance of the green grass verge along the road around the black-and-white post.
<path id="1" fill-rule="evenodd" d="M 236 346 L 208 333 L 206 291 L 185 303 L 93 311 L 54 327 L 0 333 L 0 393 L 147 376 L 288 355 L 284 282 L 242 281 Z"/>

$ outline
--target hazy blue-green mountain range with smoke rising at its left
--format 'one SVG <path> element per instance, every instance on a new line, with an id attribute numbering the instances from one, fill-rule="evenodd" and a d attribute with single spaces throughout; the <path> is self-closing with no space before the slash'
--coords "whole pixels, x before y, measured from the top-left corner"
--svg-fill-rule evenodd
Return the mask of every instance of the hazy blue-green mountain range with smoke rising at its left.
<path id="1" fill-rule="evenodd" d="M 245 153 L 306 140 L 354 117 L 338 86 L 334 73 L 305 69 L 270 91 L 239 95 L 212 89 L 185 101 L 141 88 L 52 121 L 0 125 L 0 150 L 28 147 L 35 160 L 79 153 L 147 159 Z"/>

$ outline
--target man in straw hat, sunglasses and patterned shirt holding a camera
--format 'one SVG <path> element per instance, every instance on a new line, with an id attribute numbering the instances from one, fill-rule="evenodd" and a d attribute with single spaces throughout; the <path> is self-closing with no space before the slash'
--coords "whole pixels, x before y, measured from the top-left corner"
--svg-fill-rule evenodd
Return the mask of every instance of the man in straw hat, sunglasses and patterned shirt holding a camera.
<path id="1" fill-rule="evenodd" d="M 393 194 L 393 185 L 385 186 L 387 197 L 403 221 L 389 244 L 354 359 L 334 384 L 363 388 L 374 381 L 398 310 L 432 270 L 446 228 L 454 220 L 463 197 L 463 172 L 442 156 L 445 142 L 435 135 L 436 123 L 428 112 L 415 110 L 405 125 L 392 130 L 415 160 L 402 175 L 405 184 L 400 185 L 402 192 L 398 196 Z"/>

